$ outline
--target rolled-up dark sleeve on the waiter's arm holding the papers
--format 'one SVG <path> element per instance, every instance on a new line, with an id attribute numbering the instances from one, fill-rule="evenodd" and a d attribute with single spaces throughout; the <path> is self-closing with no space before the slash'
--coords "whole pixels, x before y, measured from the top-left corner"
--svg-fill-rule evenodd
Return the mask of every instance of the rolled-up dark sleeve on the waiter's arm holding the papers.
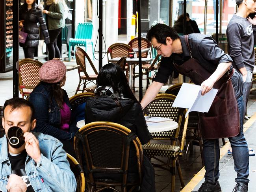
<path id="1" fill-rule="evenodd" d="M 217 45 L 212 37 L 206 36 L 198 43 L 198 51 L 206 61 L 219 65 L 220 63 L 228 63 L 233 60 L 228 54 Z"/>

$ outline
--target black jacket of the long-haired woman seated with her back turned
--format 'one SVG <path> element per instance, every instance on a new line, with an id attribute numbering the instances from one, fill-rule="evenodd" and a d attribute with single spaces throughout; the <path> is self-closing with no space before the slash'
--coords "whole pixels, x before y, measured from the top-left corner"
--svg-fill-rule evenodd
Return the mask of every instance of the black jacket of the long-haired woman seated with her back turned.
<path id="1" fill-rule="evenodd" d="M 122 109 L 117 107 L 113 97 L 91 98 L 85 107 L 85 123 L 109 121 L 121 124 L 134 132 L 141 144 L 146 144 L 150 139 L 150 133 L 141 105 L 130 99 L 119 100 Z"/>

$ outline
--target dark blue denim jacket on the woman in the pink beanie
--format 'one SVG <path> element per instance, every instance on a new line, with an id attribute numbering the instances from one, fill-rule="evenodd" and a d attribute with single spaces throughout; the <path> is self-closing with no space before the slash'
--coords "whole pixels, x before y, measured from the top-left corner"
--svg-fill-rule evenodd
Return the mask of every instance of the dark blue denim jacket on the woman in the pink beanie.
<path id="1" fill-rule="evenodd" d="M 29 101 L 35 108 L 35 118 L 37 120 L 34 131 L 51 135 L 59 140 L 70 140 L 73 137 L 72 133 L 60 129 L 60 109 L 50 95 L 50 88 L 50 83 L 41 82 L 30 94 Z M 65 90 L 64 92 L 64 102 L 71 107 L 67 92 Z"/>

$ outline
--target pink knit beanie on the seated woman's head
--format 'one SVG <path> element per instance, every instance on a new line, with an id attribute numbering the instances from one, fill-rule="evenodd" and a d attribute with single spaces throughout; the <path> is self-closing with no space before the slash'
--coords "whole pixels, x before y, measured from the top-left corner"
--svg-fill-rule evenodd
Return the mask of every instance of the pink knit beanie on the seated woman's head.
<path id="1" fill-rule="evenodd" d="M 56 59 L 44 63 L 39 69 L 39 78 L 46 83 L 58 83 L 66 75 L 66 65 Z"/>

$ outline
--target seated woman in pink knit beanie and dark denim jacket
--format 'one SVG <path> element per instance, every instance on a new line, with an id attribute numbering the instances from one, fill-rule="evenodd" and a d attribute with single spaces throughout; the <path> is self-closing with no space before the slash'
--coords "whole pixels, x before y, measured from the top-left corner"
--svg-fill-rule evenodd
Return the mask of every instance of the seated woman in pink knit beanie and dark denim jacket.
<path id="1" fill-rule="evenodd" d="M 39 78 L 41 82 L 29 97 L 37 120 L 34 131 L 58 138 L 63 143 L 63 149 L 73 156 L 73 138 L 76 131 L 70 130 L 69 97 L 61 88 L 66 82 L 66 66 L 60 60 L 47 61 L 39 70 Z"/>

